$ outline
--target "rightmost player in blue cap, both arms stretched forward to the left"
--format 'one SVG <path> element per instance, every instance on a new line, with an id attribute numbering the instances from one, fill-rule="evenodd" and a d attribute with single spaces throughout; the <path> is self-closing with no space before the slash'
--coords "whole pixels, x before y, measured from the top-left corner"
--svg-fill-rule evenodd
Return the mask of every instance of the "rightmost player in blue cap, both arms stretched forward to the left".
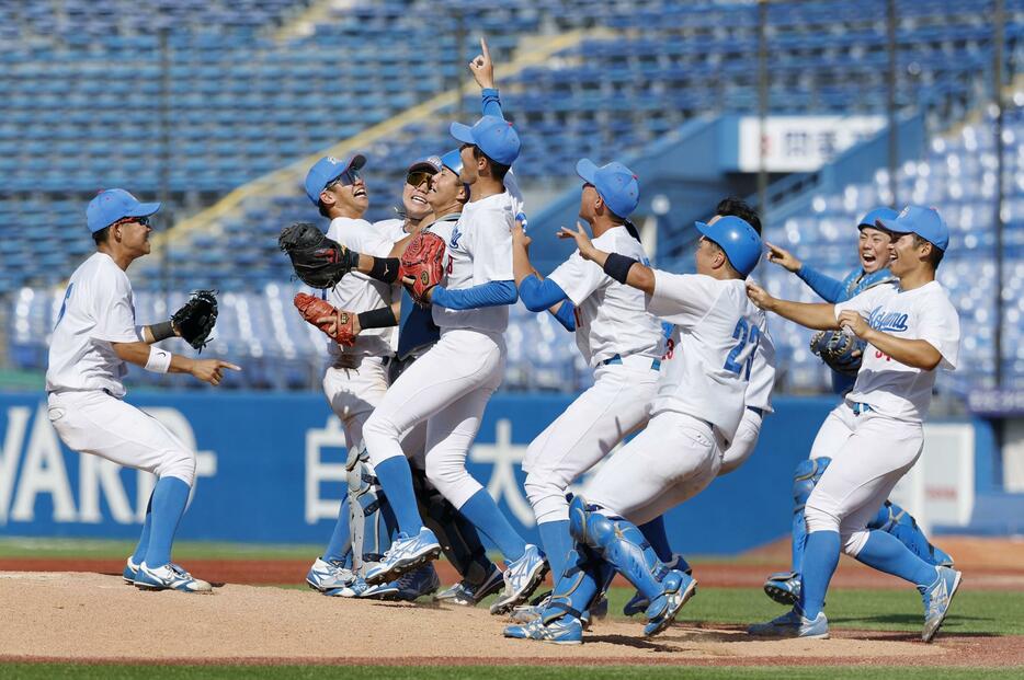
<path id="1" fill-rule="evenodd" d="M 960 573 L 925 562 L 868 521 L 917 462 L 940 367 L 955 369 L 960 326 L 935 280 L 949 232 L 933 208 L 908 206 L 875 224 L 891 235 L 889 269 L 899 284 L 876 286 L 837 304 L 778 300 L 752 283 L 762 309 L 810 329 L 844 329 L 866 344 L 853 390 L 818 434 L 811 456 L 831 459 L 807 498 L 800 596 L 793 610 L 750 627 L 752 635 L 828 637 L 824 596 L 840 551 L 914 584 L 924 602 L 922 639 L 942 625 Z"/>

